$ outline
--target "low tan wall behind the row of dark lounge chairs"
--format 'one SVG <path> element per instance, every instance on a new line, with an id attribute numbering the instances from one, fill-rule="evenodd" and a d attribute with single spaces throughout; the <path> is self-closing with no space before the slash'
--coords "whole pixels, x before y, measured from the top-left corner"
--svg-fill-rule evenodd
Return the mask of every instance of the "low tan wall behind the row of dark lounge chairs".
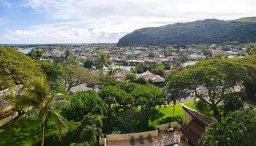
<path id="1" fill-rule="evenodd" d="M 140 132 L 140 133 L 132 133 L 132 134 L 109 134 L 106 135 L 107 141 L 118 141 L 118 140 L 129 140 L 131 137 L 134 137 L 135 139 L 140 138 L 140 136 L 143 136 L 144 138 L 148 137 L 148 134 L 151 134 L 151 137 L 158 137 L 158 131 L 146 131 L 146 132 Z"/>

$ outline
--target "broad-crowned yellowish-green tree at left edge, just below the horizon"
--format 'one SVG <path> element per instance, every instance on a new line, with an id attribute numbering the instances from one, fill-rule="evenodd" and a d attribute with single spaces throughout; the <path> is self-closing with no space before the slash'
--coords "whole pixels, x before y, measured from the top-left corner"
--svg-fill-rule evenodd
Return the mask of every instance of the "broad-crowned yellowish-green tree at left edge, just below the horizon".
<path id="1" fill-rule="evenodd" d="M 23 85 L 31 77 L 42 74 L 40 64 L 31 58 L 10 47 L 0 46 L 0 91 L 18 88 L 18 94 L 22 93 Z"/>

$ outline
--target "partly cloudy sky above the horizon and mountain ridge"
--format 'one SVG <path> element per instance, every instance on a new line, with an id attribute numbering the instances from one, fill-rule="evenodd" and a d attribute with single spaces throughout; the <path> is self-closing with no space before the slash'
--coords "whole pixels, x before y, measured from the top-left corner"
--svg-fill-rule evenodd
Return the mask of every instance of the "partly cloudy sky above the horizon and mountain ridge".
<path id="1" fill-rule="evenodd" d="M 0 0 L 0 44 L 118 42 L 143 27 L 253 16 L 255 0 Z"/>

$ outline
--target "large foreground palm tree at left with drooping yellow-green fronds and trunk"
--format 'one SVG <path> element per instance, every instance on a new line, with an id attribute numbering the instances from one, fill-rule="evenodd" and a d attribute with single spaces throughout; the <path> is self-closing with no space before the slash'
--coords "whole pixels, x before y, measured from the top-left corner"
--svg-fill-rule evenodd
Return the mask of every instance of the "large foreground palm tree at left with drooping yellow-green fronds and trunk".
<path id="1" fill-rule="evenodd" d="M 26 107 L 27 111 L 20 118 L 39 117 L 41 120 L 41 146 L 45 139 L 45 121 L 47 118 L 53 118 L 58 124 L 59 138 L 67 133 L 65 118 L 55 112 L 56 108 L 63 107 L 67 101 L 61 96 L 56 96 L 50 92 L 45 77 L 34 77 L 28 84 L 24 96 L 20 97 L 18 104 Z M 19 119 L 20 119 L 19 118 Z"/>

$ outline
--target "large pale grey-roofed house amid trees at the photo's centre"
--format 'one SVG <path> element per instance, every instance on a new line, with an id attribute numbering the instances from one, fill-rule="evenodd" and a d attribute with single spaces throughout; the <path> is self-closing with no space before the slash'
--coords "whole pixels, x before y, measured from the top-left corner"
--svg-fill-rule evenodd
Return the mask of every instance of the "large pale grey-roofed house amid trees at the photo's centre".
<path id="1" fill-rule="evenodd" d="M 157 74 L 153 74 L 149 71 L 143 72 L 141 74 L 137 74 L 137 77 L 143 77 L 146 80 L 151 80 L 154 82 L 154 85 L 157 85 L 159 87 L 164 87 L 164 85 L 165 85 L 164 77 L 161 77 Z"/>

